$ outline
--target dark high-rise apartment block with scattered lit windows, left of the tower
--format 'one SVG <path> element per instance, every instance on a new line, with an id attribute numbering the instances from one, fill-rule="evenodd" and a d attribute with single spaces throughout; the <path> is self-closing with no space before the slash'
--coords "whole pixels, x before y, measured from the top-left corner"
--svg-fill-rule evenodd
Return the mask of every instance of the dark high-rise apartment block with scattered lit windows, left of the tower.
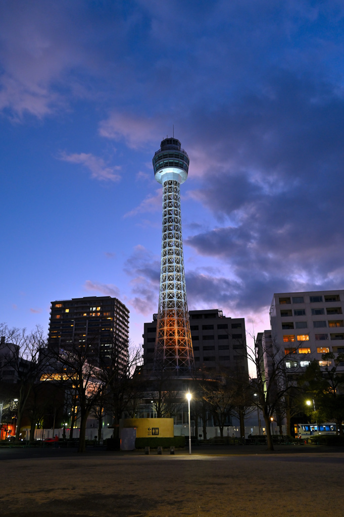
<path id="1" fill-rule="evenodd" d="M 129 310 L 111 296 L 87 296 L 51 302 L 48 346 L 71 349 L 87 344 L 95 357 L 110 355 L 111 347 L 126 363 L 129 343 Z"/>

